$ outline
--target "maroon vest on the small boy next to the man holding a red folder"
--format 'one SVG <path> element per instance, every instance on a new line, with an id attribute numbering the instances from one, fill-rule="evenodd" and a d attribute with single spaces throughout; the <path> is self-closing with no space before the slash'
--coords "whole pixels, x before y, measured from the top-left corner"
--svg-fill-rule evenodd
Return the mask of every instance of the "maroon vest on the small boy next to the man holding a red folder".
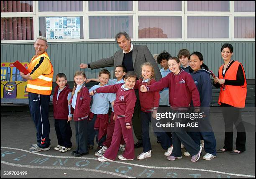
<path id="1" fill-rule="evenodd" d="M 59 93 L 59 97 L 57 100 L 58 90 L 59 86 L 57 85 L 54 89 L 54 96 L 52 99 L 52 103 L 54 106 L 54 119 L 67 120 L 69 116 L 69 105 L 67 101 L 67 96 L 69 95 L 69 92 L 71 92 L 71 90 L 69 89 L 69 85 L 66 84 L 66 87 L 64 87 L 64 89 Z"/>

